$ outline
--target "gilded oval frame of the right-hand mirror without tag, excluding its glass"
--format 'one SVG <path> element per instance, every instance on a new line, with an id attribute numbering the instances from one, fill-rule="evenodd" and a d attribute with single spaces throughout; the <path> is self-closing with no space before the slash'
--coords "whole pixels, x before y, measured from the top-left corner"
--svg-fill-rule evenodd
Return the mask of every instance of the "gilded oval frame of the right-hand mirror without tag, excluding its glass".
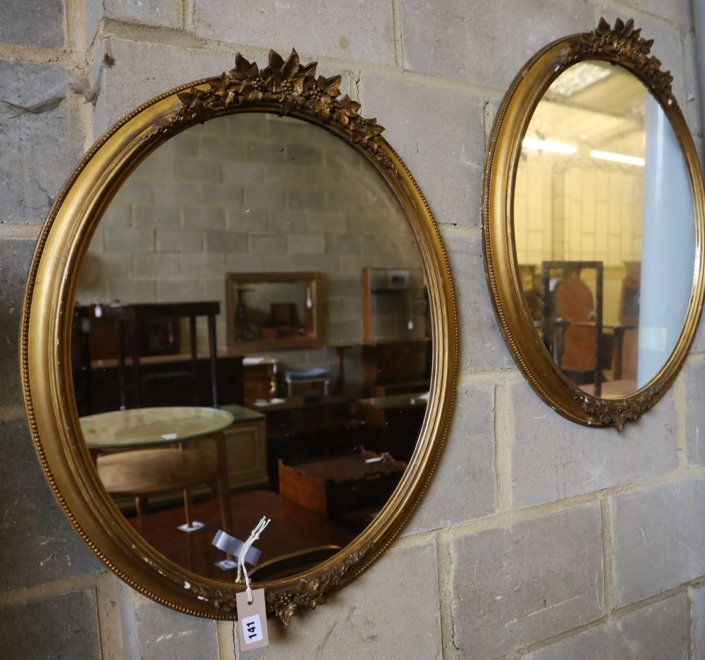
<path id="1" fill-rule="evenodd" d="M 593 32 L 558 39 L 541 49 L 517 74 L 498 109 L 484 163 L 482 231 L 484 266 L 494 312 L 510 353 L 544 401 L 561 415 L 588 426 L 615 426 L 639 417 L 658 401 L 678 375 L 694 339 L 705 291 L 703 237 L 705 191 L 697 153 L 678 103 L 673 78 L 649 56 L 652 41 L 632 20 L 611 27 L 601 19 Z M 646 386 L 620 398 L 598 398 L 579 389 L 558 366 L 534 329 L 522 293 L 515 250 L 513 199 L 522 140 L 534 109 L 553 80 L 585 59 L 623 66 L 639 78 L 666 112 L 685 158 L 696 220 L 695 277 L 685 322 L 673 353 Z"/>

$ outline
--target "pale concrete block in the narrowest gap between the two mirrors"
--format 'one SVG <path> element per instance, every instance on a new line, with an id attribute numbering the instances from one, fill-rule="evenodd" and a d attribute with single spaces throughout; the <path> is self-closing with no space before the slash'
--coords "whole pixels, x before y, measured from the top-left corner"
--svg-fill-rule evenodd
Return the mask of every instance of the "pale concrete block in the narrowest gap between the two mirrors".
<path id="1" fill-rule="evenodd" d="M 465 233 L 449 233 L 441 226 L 450 277 L 458 307 L 460 360 L 458 369 L 506 369 L 513 365 L 492 310 L 482 265 L 482 240 Z"/>

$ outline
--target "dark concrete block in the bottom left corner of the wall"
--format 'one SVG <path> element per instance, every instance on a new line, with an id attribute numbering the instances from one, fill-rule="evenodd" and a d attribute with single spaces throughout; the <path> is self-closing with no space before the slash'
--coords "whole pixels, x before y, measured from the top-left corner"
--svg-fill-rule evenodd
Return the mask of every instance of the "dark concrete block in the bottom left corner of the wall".
<path id="1" fill-rule="evenodd" d="M 92 589 L 0 608 L 0 656 L 17 660 L 99 658 Z"/>

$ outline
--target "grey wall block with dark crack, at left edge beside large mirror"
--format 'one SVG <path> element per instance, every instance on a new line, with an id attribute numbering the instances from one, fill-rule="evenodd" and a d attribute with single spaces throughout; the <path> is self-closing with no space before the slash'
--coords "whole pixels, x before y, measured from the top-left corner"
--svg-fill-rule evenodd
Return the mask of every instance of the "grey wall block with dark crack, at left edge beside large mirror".
<path id="1" fill-rule="evenodd" d="M 40 6 L 58 3 L 30 4 L 35 13 L 13 0 L 11 15 L 27 11 L 32 30 L 43 30 Z M 68 102 L 68 71 L 0 61 L 0 90 L 0 221 L 41 222 L 83 149 L 80 120 Z"/>

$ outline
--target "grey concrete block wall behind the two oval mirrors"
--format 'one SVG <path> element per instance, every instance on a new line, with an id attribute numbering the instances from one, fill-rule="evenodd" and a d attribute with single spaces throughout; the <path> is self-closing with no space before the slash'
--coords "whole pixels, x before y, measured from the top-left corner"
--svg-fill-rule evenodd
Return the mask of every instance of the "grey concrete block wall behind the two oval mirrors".
<path id="1" fill-rule="evenodd" d="M 696 4 L 697 4 L 696 0 Z M 701 11 L 701 8 L 699 8 Z M 54 504 L 18 389 L 18 310 L 51 200 L 121 114 L 296 47 L 378 116 L 427 195 L 462 340 L 436 479 L 403 535 L 258 658 L 705 658 L 705 338 L 618 435 L 554 414 L 514 367 L 486 292 L 479 187 L 494 111 L 546 42 L 635 18 L 701 148 L 690 0 L 4 0 L 0 4 L 0 656 L 232 660 L 233 625 L 107 573 Z"/>

